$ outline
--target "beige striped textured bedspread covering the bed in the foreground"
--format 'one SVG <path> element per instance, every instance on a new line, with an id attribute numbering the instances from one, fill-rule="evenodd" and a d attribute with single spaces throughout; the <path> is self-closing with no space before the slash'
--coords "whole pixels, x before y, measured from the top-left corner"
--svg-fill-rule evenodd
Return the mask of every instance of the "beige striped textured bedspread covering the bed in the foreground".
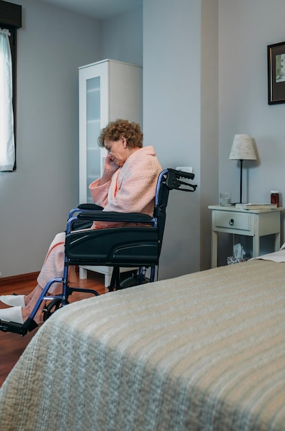
<path id="1" fill-rule="evenodd" d="M 285 430 L 285 264 L 234 264 L 57 311 L 3 383 L 0 428 Z"/>

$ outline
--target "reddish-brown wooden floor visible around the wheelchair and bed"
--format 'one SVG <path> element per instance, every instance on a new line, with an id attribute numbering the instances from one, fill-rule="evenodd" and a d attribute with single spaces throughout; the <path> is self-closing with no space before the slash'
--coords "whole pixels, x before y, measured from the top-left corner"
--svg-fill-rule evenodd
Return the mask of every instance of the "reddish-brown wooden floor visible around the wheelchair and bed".
<path id="1" fill-rule="evenodd" d="M 23 295 L 29 293 L 36 286 L 36 276 L 37 274 L 33 273 L 0 279 L 0 295 L 10 295 L 12 293 Z M 93 288 L 100 295 L 105 293 L 104 276 L 91 271 L 88 273 L 87 280 L 79 280 L 78 286 Z M 69 297 L 69 301 L 78 301 L 89 296 L 92 295 L 75 292 Z M 5 304 L 0 302 L 0 308 L 5 307 Z M 36 334 L 37 329 L 34 329 L 31 333 L 27 333 L 25 337 L 21 337 L 19 334 L 3 333 L 0 331 L 0 386 L 8 376 L 10 370 L 12 370 L 14 364 L 16 364 L 16 361 L 18 361 L 27 344 L 29 344 L 32 337 Z"/>

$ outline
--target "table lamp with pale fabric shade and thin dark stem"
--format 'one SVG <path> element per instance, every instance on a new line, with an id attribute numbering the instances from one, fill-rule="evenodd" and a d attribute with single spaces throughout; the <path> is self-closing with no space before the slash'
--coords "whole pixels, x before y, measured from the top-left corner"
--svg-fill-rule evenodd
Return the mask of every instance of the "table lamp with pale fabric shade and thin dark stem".
<path id="1" fill-rule="evenodd" d="M 249 135 L 234 136 L 229 160 L 240 160 L 240 203 L 242 203 L 242 162 L 244 160 L 256 160 L 255 149 Z"/>

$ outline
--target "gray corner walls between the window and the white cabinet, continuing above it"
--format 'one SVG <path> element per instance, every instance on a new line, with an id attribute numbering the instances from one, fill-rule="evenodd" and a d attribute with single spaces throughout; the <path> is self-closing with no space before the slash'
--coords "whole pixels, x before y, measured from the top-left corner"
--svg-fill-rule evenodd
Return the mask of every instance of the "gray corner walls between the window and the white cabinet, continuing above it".
<path id="1" fill-rule="evenodd" d="M 2 277 L 39 271 L 78 204 L 78 67 L 104 58 L 142 64 L 141 8 L 109 23 L 17 3 L 17 170 L 0 173 Z"/>

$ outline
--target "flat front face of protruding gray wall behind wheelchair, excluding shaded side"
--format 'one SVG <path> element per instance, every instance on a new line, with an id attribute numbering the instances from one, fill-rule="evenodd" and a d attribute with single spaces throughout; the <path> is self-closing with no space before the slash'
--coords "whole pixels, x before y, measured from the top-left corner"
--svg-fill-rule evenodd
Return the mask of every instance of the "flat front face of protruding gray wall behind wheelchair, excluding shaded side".
<path id="1" fill-rule="evenodd" d="M 201 8 L 178 3 L 144 1 L 144 140 L 163 168 L 192 166 L 201 187 Z M 170 194 L 161 279 L 199 269 L 200 194 Z"/>

